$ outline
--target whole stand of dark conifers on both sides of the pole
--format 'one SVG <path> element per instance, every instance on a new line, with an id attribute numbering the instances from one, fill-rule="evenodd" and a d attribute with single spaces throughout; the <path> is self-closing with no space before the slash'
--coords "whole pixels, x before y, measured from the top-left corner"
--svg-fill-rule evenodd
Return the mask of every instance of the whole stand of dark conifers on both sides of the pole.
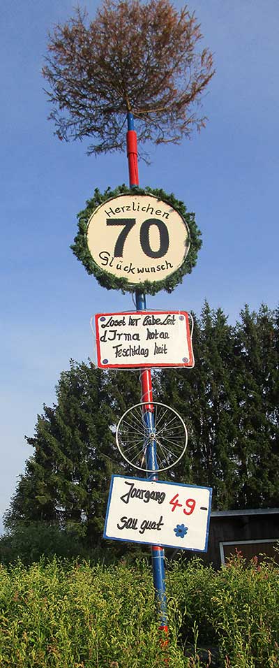
<path id="1" fill-rule="evenodd" d="M 193 348 L 193 369 L 153 376 L 154 400 L 177 409 L 189 433 L 186 455 L 165 479 L 212 486 L 213 509 L 278 507 L 279 310 L 246 306 L 231 326 L 205 303 Z M 139 378 L 71 361 L 56 394 L 27 438 L 33 456 L 6 528 L 12 537 L 19 525 L 43 521 L 75 532 L 84 549 L 100 549 L 111 474 L 135 475 L 121 461 L 114 432 L 140 401 Z"/>

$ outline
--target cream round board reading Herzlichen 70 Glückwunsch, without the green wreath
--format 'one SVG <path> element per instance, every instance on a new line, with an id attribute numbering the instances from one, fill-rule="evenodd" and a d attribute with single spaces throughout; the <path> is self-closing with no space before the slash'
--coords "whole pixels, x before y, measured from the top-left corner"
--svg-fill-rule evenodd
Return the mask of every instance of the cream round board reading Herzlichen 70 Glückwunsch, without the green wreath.
<path id="1" fill-rule="evenodd" d="M 87 245 L 96 265 L 131 284 L 162 281 L 186 259 L 190 233 L 181 214 L 151 194 L 120 194 L 89 218 Z"/>

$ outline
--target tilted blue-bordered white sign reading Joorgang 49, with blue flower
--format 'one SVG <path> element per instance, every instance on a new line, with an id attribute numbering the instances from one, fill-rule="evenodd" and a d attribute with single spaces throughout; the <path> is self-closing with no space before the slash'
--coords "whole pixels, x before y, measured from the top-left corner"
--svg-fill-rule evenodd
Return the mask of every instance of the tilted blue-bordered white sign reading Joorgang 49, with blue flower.
<path id="1" fill-rule="evenodd" d="M 210 487 L 115 475 L 104 538 L 206 552 Z"/>

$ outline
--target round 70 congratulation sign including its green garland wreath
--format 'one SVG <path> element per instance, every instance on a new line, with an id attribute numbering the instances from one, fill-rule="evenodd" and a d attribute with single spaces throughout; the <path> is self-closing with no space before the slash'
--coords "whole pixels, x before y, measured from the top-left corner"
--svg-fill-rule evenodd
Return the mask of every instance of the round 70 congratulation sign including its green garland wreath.
<path id="1" fill-rule="evenodd" d="M 96 188 L 77 218 L 71 249 L 108 290 L 172 292 L 197 263 L 202 239 L 195 213 L 173 193 L 125 184 L 104 193 Z"/>

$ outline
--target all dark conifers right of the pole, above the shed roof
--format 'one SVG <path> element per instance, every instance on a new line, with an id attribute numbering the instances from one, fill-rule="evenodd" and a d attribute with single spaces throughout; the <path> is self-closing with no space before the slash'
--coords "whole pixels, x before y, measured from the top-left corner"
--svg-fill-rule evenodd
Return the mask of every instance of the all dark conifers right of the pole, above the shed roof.
<path id="1" fill-rule="evenodd" d="M 241 311 L 235 326 L 204 304 L 195 367 L 163 370 L 160 398 L 189 431 L 176 480 L 213 487 L 213 509 L 278 507 L 278 310 Z"/>

